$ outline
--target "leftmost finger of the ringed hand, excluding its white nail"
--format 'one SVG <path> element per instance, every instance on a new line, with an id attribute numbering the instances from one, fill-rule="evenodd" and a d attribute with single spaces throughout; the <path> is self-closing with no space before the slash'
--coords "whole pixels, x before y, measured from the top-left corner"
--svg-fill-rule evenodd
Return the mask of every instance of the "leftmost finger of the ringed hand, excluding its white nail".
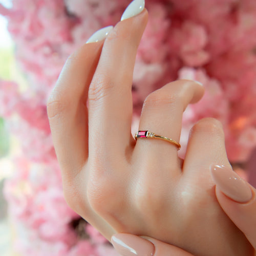
<path id="1" fill-rule="evenodd" d="M 62 175 L 74 177 L 88 157 L 88 88 L 103 42 L 85 44 L 66 61 L 47 103 Z"/>

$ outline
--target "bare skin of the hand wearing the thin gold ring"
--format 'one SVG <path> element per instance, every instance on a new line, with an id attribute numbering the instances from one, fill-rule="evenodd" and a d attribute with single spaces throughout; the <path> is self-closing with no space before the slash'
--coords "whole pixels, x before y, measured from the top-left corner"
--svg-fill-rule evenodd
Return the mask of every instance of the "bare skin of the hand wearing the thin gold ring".
<path id="1" fill-rule="evenodd" d="M 47 110 L 66 201 L 109 240 L 125 232 L 196 255 L 252 255 L 209 173 L 212 163 L 230 166 L 221 123 L 194 125 L 184 162 L 173 144 L 136 142 L 131 134 L 133 68 L 147 15 L 123 20 L 104 41 L 73 53 L 51 93 Z M 139 130 L 179 141 L 182 113 L 203 93 L 195 81 L 166 84 L 145 99 Z"/>

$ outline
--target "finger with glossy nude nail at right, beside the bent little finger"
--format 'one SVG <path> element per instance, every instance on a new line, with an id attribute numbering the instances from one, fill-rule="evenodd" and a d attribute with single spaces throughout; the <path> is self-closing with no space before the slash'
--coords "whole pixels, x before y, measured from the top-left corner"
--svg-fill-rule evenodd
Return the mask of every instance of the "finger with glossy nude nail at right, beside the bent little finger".
<path id="1" fill-rule="evenodd" d="M 228 167 L 212 165 L 210 169 L 222 209 L 255 249 L 256 189 Z"/>

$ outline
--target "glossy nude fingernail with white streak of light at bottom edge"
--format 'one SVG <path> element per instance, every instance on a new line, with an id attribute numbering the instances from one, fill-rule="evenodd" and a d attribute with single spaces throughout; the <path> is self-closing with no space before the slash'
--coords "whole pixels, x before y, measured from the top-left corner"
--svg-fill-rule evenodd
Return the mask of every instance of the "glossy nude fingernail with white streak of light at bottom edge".
<path id="1" fill-rule="evenodd" d="M 114 234 L 111 242 L 118 253 L 122 256 L 152 256 L 155 246 L 141 237 L 133 234 Z"/>

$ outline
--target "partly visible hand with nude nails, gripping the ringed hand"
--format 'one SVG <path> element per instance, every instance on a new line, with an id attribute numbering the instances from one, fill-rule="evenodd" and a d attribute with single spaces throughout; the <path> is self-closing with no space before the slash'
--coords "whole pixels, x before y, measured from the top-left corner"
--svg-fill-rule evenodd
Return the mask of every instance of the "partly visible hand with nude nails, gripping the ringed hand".
<path id="1" fill-rule="evenodd" d="M 217 184 L 216 196 L 228 217 L 245 234 L 256 255 L 256 189 L 243 181 L 230 168 L 212 166 L 212 176 Z M 191 256 L 178 247 L 149 237 L 133 234 L 115 234 L 112 244 L 123 256 Z M 247 254 L 244 254 L 247 255 Z"/>

